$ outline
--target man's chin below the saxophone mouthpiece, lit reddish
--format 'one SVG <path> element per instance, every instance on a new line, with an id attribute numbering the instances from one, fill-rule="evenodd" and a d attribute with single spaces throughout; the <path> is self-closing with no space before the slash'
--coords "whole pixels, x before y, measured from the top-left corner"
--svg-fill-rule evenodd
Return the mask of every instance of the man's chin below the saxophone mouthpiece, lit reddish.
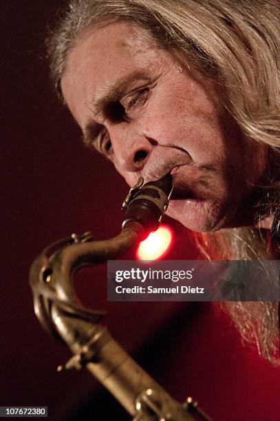
<path id="1" fill-rule="evenodd" d="M 171 200 L 166 215 L 198 233 L 226 228 L 228 220 L 221 202 L 198 199 Z"/>

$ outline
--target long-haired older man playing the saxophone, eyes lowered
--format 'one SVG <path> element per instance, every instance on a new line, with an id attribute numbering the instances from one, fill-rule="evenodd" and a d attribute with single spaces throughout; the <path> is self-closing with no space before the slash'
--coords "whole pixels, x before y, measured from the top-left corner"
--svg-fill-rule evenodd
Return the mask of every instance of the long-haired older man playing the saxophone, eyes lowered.
<path id="1" fill-rule="evenodd" d="M 206 257 L 277 258 L 256 229 L 277 228 L 277 1 L 77 0 L 48 45 L 85 144 L 130 186 L 171 172 L 169 215 Z M 277 361 L 277 303 L 224 307 Z"/>

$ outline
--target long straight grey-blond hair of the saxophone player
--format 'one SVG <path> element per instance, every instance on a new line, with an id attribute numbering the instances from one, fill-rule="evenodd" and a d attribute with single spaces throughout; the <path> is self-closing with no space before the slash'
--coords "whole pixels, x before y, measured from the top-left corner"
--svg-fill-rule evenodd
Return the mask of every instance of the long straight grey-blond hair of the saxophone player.
<path id="1" fill-rule="evenodd" d="M 270 149 L 274 164 L 259 204 L 260 219 L 279 206 L 279 17 L 277 0 L 73 0 L 47 39 L 52 79 L 61 95 L 69 52 L 83 31 L 101 23 L 129 21 L 158 45 L 177 49 L 204 76 L 222 85 L 224 107 L 244 135 Z M 209 259 L 275 257 L 268 241 L 252 228 L 195 237 Z M 278 361 L 277 303 L 225 303 L 224 310 L 244 340 Z"/>

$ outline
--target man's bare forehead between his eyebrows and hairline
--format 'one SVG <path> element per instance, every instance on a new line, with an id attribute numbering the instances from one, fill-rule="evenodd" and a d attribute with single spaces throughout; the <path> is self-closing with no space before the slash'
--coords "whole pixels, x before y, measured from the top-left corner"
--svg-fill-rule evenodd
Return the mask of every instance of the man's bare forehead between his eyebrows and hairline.
<path id="1" fill-rule="evenodd" d="M 61 88 L 76 120 L 116 80 L 133 72 L 151 72 L 160 49 L 131 23 L 116 22 L 91 28 L 78 36 L 67 57 Z M 157 64 L 158 65 L 158 64 Z"/>

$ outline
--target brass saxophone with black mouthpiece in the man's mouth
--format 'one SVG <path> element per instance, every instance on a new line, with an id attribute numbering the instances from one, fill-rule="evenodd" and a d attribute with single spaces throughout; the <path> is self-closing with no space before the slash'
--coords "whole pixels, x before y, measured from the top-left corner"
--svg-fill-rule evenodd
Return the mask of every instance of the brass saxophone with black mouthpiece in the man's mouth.
<path id="1" fill-rule="evenodd" d="M 192 398 L 184 404 L 169 396 L 100 325 L 104 313 L 78 302 L 74 273 L 83 266 L 116 259 L 156 230 L 173 190 L 170 174 L 130 189 L 122 207 L 125 221 L 116 237 L 92 241 L 90 233 L 72 234 L 51 244 L 33 262 L 30 285 L 34 312 L 43 328 L 67 344 L 74 356 L 65 369 L 87 369 L 133 416 L 133 421 L 209 420 Z"/>

